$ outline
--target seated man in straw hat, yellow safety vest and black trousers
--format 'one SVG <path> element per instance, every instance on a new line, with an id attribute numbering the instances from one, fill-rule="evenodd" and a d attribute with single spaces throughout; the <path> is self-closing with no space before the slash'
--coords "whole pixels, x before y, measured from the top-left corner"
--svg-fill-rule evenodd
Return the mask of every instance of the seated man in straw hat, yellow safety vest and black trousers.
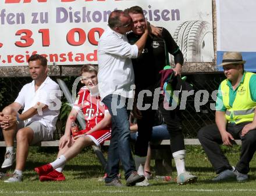
<path id="1" fill-rule="evenodd" d="M 225 52 L 222 64 L 226 79 L 219 86 L 214 125 L 198 132 L 205 153 L 214 166 L 215 182 L 236 179 L 248 180 L 249 163 L 256 151 L 256 74 L 244 71 L 240 52 Z M 241 155 L 236 166 L 231 166 L 219 144 L 232 146 L 241 139 Z"/>

